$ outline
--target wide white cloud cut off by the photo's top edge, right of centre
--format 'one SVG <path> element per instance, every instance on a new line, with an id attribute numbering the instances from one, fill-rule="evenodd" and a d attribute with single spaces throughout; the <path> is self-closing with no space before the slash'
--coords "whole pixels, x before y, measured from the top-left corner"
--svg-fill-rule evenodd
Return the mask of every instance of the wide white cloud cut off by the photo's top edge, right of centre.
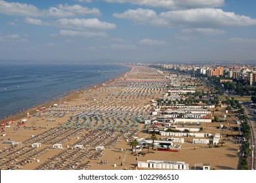
<path id="1" fill-rule="evenodd" d="M 224 0 L 104 0 L 108 3 L 131 3 L 166 9 L 220 7 Z"/>

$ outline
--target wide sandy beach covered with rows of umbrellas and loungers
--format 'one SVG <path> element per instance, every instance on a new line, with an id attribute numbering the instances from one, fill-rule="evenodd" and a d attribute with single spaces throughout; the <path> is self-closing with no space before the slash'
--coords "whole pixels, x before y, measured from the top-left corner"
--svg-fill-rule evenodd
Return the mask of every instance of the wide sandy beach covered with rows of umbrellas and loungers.
<path id="1" fill-rule="evenodd" d="M 224 144 L 219 148 L 192 144 L 191 137 L 185 137 L 179 152 L 150 148 L 150 153 L 142 150 L 145 155 L 132 154 L 130 142 L 134 137 L 151 136 L 137 119 L 150 118 L 154 108 L 150 101 L 163 95 L 169 80 L 155 69 L 129 67 L 131 71 L 109 82 L 39 106 L 45 110 L 30 108 L 30 118 L 26 118 L 26 111 L 8 119 L 14 123 L 1 131 L 0 169 L 119 170 L 133 169 L 137 161 L 147 160 L 184 161 L 189 169 L 197 163 L 210 163 L 211 169 L 238 169 L 240 145 L 226 138 L 233 132 L 217 131 L 215 126 L 219 124 L 213 123 L 202 127 L 207 133 L 221 133 Z M 54 103 L 59 106 L 51 107 Z M 21 119 L 26 119 L 26 124 L 16 125 Z M 12 146 L 4 141 L 20 143 Z M 32 148 L 34 143 L 41 146 Z M 62 148 L 53 148 L 54 144 Z M 95 150 L 97 146 L 104 146 L 104 150 Z"/>

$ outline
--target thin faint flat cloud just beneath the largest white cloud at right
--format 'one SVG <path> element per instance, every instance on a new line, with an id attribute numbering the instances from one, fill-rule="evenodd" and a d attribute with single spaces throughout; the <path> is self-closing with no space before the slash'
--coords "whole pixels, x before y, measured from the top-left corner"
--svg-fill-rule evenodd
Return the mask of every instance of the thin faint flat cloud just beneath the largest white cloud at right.
<path id="1" fill-rule="evenodd" d="M 191 29 L 182 29 L 181 33 L 192 34 L 192 35 L 221 35 L 225 31 L 220 29 L 211 29 L 211 28 L 191 28 Z"/>

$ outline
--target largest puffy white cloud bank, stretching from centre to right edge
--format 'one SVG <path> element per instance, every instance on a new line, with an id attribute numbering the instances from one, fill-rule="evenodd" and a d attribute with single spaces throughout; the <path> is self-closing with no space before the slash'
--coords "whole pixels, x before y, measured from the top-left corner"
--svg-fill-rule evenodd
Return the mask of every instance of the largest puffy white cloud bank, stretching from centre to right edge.
<path id="1" fill-rule="evenodd" d="M 166 27 L 241 27 L 256 25 L 256 19 L 240 16 L 234 12 L 224 12 L 216 8 L 196 8 L 189 10 L 173 10 L 156 14 L 154 10 L 138 8 L 114 14 L 116 18 L 133 20 L 134 22 Z"/>

